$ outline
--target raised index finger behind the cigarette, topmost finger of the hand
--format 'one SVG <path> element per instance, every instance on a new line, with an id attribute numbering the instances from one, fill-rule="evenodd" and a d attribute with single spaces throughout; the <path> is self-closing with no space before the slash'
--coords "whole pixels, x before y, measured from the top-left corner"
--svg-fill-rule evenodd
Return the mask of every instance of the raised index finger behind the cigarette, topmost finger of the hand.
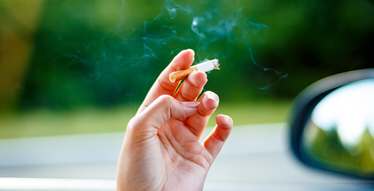
<path id="1" fill-rule="evenodd" d="M 144 101 L 141 103 L 139 110 L 141 112 L 145 107 L 147 107 L 151 102 L 153 102 L 157 97 L 162 94 L 174 95 L 179 82 L 171 82 L 169 80 L 169 74 L 173 71 L 188 68 L 192 65 L 194 59 L 194 51 L 192 49 L 185 49 L 180 51 L 166 66 L 165 69 L 159 74 L 156 81 L 150 87 Z"/>

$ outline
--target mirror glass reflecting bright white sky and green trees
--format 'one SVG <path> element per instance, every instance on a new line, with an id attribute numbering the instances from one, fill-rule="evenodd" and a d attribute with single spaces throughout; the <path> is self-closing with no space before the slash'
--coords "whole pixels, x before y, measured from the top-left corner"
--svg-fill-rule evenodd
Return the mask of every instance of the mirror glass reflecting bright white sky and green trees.
<path id="1" fill-rule="evenodd" d="M 374 172 L 374 79 L 341 86 L 322 98 L 301 136 L 310 162 L 367 175 Z"/>

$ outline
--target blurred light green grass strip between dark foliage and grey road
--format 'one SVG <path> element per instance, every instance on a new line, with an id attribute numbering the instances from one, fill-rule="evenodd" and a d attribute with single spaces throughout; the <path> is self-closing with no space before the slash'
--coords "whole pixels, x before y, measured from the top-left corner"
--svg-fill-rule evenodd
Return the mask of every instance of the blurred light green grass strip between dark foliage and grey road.
<path id="1" fill-rule="evenodd" d="M 232 117 L 236 127 L 247 124 L 285 122 L 288 101 L 266 101 L 219 104 L 216 114 L 225 113 Z M 124 104 L 117 107 L 97 108 L 87 106 L 73 110 L 54 111 L 35 109 L 16 115 L 0 117 L 2 138 L 50 136 L 123 132 L 128 121 L 135 115 L 138 105 Z M 214 127 L 215 115 L 209 118 L 207 128 Z M 210 130 L 210 129 L 209 129 Z"/>

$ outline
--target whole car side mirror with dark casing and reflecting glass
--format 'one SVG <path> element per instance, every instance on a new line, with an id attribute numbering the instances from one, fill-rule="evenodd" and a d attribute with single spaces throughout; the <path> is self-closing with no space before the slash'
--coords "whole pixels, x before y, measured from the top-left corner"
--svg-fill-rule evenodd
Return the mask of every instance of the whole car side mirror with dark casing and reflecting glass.
<path id="1" fill-rule="evenodd" d="M 309 85 L 291 105 L 290 127 L 304 164 L 374 179 L 374 68 Z"/>

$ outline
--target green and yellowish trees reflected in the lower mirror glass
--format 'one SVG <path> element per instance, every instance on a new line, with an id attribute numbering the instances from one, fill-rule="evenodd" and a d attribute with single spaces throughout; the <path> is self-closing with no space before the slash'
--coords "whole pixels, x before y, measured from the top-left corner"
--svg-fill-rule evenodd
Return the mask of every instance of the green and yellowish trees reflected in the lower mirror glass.
<path id="1" fill-rule="evenodd" d="M 336 128 L 324 131 L 318 127 L 312 142 L 305 142 L 304 151 L 311 154 L 311 162 L 329 166 L 335 170 L 370 175 L 374 169 L 374 139 L 369 130 L 362 134 L 361 140 L 350 149 L 343 146 Z M 310 150 L 309 150 L 310 149 Z"/>

